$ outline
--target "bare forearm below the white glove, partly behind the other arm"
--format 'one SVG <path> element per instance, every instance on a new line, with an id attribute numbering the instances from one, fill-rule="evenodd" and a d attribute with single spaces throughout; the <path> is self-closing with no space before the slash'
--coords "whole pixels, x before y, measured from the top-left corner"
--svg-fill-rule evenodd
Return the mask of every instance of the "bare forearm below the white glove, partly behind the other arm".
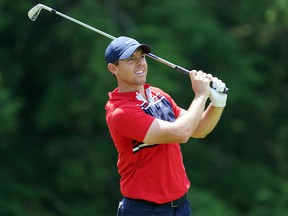
<path id="1" fill-rule="evenodd" d="M 223 113 L 224 107 L 214 107 L 211 104 L 203 112 L 201 120 L 191 137 L 204 138 L 217 125 Z"/>

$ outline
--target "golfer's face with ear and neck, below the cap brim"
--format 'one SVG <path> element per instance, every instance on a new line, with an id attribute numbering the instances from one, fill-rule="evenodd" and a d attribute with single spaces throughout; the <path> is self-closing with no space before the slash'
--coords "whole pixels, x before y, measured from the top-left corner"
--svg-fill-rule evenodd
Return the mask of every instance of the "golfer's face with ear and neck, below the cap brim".
<path id="1" fill-rule="evenodd" d="M 136 91 L 146 82 L 147 63 L 145 54 L 138 48 L 128 59 L 118 60 L 118 64 L 108 64 L 108 69 L 118 81 L 119 91 Z"/>

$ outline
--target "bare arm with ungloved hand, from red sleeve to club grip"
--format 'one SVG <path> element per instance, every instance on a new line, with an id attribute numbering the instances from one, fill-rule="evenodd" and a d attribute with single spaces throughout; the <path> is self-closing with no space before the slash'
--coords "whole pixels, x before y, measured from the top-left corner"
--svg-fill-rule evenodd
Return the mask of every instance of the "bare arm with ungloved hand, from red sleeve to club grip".
<path id="1" fill-rule="evenodd" d="M 211 76 L 212 77 L 212 76 Z M 155 119 L 150 125 L 143 142 L 145 143 L 186 143 L 199 127 L 205 110 L 207 99 L 210 96 L 211 77 L 202 71 L 191 71 L 190 79 L 195 98 L 187 111 L 173 122 Z"/>

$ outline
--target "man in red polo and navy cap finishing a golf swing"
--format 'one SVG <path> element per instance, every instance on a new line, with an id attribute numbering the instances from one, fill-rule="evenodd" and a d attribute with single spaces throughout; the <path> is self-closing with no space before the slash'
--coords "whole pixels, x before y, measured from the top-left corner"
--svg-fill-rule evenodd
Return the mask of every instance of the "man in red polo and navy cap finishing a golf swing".
<path id="1" fill-rule="evenodd" d="M 186 111 L 159 88 L 146 84 L 145 53 L 150 47 L 128 37 L 106 49 L 108 70 L 118 87 L 109 93 L 106 121 L 118 151 L 123 200 L 118 215 L 190 215 L 190 182 L 179 143 L 203 138 L 216 126 L 226 104 L 225 84 L 202 71 L 191 71 L 195 94 Z M 205 109 L 207 99 L 211 104 Z"/>

